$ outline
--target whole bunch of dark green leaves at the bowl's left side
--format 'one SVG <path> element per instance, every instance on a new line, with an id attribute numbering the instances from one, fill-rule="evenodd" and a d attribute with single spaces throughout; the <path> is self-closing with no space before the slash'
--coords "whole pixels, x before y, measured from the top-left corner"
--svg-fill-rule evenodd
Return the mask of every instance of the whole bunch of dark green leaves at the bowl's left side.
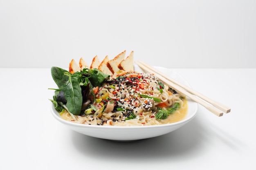
<path id="1" fill-rule="evenodd" d="M 88 93 L 91 93 L 94 97 L 92 88 L 101 86 L 101 84 L 110 77 L 110 75 L 99 71 L 97 68 L 85 68 L 81 72 L 71 74 L 65 69 L 52 67 L 51 74 L 59 88 L 54 89 L 55 95 L 53 99 L 51 99 L 54 108 L 58 111 L 65 109 L 72 115 L 80 115 L 83 98 L 88 97 Z"/>

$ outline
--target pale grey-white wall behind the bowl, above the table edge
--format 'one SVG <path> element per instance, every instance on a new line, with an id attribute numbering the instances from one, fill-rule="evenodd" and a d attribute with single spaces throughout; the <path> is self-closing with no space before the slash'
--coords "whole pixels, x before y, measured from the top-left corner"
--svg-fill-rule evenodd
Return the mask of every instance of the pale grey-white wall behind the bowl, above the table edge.
<path id="1" fill-rule="evenodd" d="M 256 68 L 254 0 L 0 0 L 0 67 L 126 50 L 168 68 Z"/>

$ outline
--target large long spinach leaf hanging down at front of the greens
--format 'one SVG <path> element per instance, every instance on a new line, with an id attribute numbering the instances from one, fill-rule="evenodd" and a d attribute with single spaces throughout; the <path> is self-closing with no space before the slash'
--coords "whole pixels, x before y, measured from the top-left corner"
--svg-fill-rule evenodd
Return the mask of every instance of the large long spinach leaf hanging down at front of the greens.
<path id="1" fill-rule="evenodd" d="M 69 72 L 65 72 L 64 75 L 68 77 L 68 80 L 62 86 L 65 99 L 67 100 L 66 106 L 70 113 L 79 115 L 81 113 L 83 97 L 77 80 L 78 77 L 76 75 L 72 76 Z"/>

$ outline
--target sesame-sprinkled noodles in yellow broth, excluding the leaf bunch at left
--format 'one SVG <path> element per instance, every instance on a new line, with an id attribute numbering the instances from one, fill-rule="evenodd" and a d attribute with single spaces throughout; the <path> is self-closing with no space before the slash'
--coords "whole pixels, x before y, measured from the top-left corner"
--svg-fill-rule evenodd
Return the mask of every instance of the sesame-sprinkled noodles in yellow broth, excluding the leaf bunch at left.
<path id="1" fill-rule="evenodd" d="M 153 74 L 135 71 L 112 75 L 93 93 L 81 115 L 60 115 L 67 121 L 98 126 L 170 124 L 186 117 L 186 97 Z M 94 94 L 94 96 L 93 96 Z"/>

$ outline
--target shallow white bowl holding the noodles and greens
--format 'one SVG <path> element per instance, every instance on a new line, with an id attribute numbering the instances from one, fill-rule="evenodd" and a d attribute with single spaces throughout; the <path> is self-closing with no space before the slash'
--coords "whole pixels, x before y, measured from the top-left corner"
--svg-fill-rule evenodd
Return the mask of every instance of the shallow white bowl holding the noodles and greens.
<path id="1" fill-rule="evenodd" d="M 186 86 L 190 86 L 188 82 L 180 75 L 177 75 L 170 69 L 155 67 L 157 70 L 177 79 L 179 82 L 182 82 Z M 135 66 L 135 70 L 142 72 L 139 67 Z M 97 137 L 101 139 L 109 139 L 115 141 L 133 141 L 139 139 L 147 139 L 151 137 L 157 137 L 160 135 L 165 135 L 173 130 L 176 130 L 189 121 L 191 121 L 198 110 L 198 104 L 193 102 L 187 97 L 188 104 L 188 113 L 182 121 L 178 121 L 171 124 L 162 124 L 162 125 L 151 125 L 151 126 L 97 126 L 97 125 L 85 125 L 85 124 L 76 124 L 70 121 L 66 121 L 59 116 L 59 113 L 55 110 L 51 102 L 51 113 L 52 115 L 61 123 L 66 125 L 68 128 L 79 132 L 84 135 L 91 137 Z"/>

